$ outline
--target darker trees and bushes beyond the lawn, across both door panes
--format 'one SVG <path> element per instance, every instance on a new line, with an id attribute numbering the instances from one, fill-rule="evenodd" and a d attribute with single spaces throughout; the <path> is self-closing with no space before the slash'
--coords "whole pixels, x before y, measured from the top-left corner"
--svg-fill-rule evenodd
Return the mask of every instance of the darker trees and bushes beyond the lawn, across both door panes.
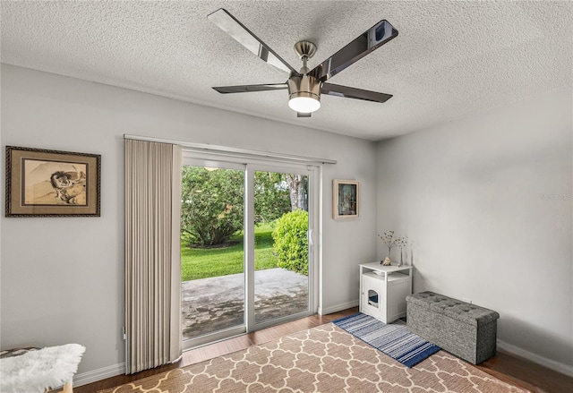
<path id="1" fill-rule="evenodd" d="M 291 209 L 305 208 L 306 176 L 254 173 L 255 224 L 272 223 Z M 302 204 L 302 206 L 301 206 Z M 210 247 L 243 230 L 244 172 L 183 167 L 181 233 L 184 243 Z"/>

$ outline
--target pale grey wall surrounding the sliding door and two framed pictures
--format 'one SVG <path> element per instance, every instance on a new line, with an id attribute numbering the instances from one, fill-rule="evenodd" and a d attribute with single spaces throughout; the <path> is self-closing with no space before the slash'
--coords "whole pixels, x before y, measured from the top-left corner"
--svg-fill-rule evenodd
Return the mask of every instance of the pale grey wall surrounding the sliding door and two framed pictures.
<path id="1" fill-rule="evenodd" d="M 84 381 L 121 369 L 124 133 L 338 160 L 323 171 L 321 309 L 357 302 L 357 264 L 376 254 L 372 142 L 6 64 L 1 125 L 3 155 L 12 145 L 102 156 L 100 218 L 1 218 L 2 348 L 76 342 Z M 333 178 L 362 182 L 362 218 L 332 220 Z"/>

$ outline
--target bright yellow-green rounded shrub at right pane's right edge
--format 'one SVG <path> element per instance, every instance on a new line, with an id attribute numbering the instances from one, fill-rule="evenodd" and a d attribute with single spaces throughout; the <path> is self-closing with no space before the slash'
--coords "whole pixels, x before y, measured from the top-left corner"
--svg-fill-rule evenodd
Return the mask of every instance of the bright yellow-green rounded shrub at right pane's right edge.
<path id="1" fill-rule="evenodd" d="M 278 267 L 308 276 L 308 212 L 296 209 L 278 218 L 272 232 Z"/>

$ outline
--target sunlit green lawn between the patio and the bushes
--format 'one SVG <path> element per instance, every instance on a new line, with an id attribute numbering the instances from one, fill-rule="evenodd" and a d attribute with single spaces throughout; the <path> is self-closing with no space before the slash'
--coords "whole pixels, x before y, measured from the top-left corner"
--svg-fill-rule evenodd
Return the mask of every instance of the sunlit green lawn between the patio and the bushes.
<path id="1" fill-rule="evenodd" d="M 255 270 L 277 267 L 277 257 L 272 253 L 272 230 L 270 224 L 254 228 Z M 181 243 L 181 280 L 226 276 L 243 273 L 243 234 L 232 237 L 239 243 L 224 248 L 192 249 Z"/>

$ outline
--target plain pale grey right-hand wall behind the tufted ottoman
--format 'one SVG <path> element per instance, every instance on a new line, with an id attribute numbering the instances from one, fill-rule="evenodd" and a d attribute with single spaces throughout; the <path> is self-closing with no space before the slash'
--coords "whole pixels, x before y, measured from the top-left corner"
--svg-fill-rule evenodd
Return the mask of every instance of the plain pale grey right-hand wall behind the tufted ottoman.
<path id="1" fill-rule="evenodd" d="M 500 346 L 573 375 L 571 95 L 382 141 L 377 207 L 413 242 L 415 292 L 500 312 Z"/>

